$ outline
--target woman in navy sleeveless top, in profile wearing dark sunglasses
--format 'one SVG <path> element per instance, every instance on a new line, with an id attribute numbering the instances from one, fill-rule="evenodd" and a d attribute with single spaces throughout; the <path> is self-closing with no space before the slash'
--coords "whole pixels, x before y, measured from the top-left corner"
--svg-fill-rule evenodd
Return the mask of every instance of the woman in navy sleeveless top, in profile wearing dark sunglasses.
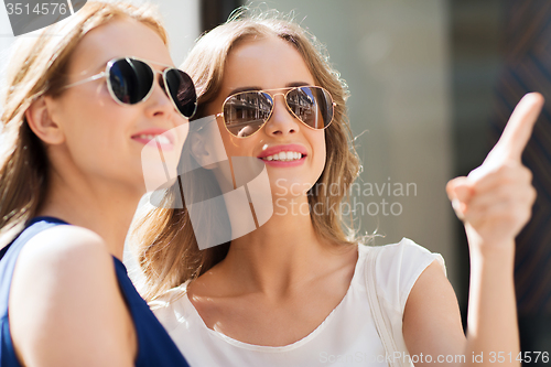
<path id="1" fill-rule="evenodd" d="M 0 366 L 187 366 L 121 258 L 142 152 L 154 139 L 180 155 L 193 82 L 149 6 L 89 1 L 19 42 L 1 118 Z"/>

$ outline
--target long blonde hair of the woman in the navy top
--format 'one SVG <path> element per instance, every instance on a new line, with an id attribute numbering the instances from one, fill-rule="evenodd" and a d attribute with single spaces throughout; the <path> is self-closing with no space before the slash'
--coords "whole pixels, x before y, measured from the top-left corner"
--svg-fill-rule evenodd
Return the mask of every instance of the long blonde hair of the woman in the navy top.
<path id="1" fill-rule="evenodd" d="M 0 246 L 9 242 L 24 223 L 36 215 L 47 191 L 46 151 L 30 129 L 25 111 L 40 96 L 61 95 L 76 45 L 90 30 L 114 17 L 138 20 L 168 43 L 166 31 L 151 6 L 89 1 L 74 15 L 44 29 L 39 36 L 21 37 L 14 45 L 1 96 Z"/>

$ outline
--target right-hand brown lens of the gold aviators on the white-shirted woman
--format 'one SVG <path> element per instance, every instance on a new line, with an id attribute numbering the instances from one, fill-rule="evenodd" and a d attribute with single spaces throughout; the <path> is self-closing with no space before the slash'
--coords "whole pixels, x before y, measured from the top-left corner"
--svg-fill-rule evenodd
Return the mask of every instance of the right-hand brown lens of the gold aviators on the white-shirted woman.
<path id="1" fill-rule="evenodd" d="M 326 128 L 333 120 L 333 99 L 320 87 L 299 87 L 287 95 L 287 105 L 304 123 L 314 129 Z"/>

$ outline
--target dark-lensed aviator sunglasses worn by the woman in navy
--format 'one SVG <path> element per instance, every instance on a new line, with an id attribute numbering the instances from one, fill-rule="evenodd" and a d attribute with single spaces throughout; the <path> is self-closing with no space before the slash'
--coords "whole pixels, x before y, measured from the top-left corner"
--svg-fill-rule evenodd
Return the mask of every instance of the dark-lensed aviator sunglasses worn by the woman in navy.
<path id="1" fill-rule="evenodd" d="M 165 66 L 161 71 L 150 64 Z M 66 85 L 64 89 L 105 77 L 112 99 L 119 105 L 136 105 L 149 98 L 153 91 L 155 74 L 161 74 L 161 87 L 172 105 L 183 117 L 190 119 L 197 108 L 197 95 L 192 78 L 181 69 L 138 57 L 120 57 L 109 61 L 106 69 L 86 79 Z"/>

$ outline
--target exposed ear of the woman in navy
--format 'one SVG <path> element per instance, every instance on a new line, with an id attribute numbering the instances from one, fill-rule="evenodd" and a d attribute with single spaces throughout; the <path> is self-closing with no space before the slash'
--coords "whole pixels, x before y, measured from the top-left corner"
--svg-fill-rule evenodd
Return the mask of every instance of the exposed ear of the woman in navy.
<path id="1" fill-rule="evenodd" d="M 61 126 L 52 117 L 52 99 L 40 96 L 25 111 L 26 122 L 31 130 L 45 143 L 55 145 L 65 141 Z"/>

